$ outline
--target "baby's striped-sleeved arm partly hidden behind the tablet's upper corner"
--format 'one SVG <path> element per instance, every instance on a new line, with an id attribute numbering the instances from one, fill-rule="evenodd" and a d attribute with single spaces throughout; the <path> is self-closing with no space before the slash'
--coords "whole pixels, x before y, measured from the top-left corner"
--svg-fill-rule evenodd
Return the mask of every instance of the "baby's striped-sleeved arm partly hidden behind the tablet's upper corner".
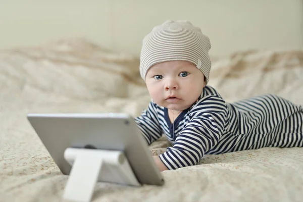
<path id="1" fill-rule="evenodd" d="M 143 110 L 141 116 L 134 120 L 148 145 L 162 136 L 163 132 L 158 121 L 157 107 L 153 101 L 149 103 L 147 110 Z"/>

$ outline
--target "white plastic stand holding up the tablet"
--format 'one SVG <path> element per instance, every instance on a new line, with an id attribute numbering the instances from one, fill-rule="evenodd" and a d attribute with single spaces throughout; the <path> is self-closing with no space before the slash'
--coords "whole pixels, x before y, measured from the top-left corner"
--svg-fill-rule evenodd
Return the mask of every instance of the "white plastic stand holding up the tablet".
<path id="1" fill-rule="evenodd" d="M 140 186 L 122 151 L 67 148 L 65 160 L 72 166 L 63 198 L 90 201 L 97 181 Z"/>

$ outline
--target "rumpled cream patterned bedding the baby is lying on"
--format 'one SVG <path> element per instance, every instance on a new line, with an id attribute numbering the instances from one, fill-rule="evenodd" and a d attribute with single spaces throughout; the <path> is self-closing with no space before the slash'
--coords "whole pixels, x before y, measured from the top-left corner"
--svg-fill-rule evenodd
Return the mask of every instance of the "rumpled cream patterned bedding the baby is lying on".
<path id="1" fill-rule="evenodd" d="M 209 85 L 229 102 L 267 92 L 303 104 L 303 52 L 235 53 L 212 58 Z M 91 42 L 65 39 L 0 52 L 0 201 L 61 201 L 68 176 L 47 153 L 26 114 L 124 112 L 150 97 L 138 59 Z M 163 153 L 165 138 L 153 143 Z M 208 155 L 165 171 L 162 187 L 98 182 L 93 201 L 301 201 L 303 148 Z"/>

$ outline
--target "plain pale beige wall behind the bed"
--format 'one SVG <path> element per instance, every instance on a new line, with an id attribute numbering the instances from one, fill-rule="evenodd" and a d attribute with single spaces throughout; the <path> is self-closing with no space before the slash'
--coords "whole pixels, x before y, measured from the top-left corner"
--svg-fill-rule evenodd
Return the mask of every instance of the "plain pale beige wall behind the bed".
<path id="1" fill-rule="evenodd" d="M 211 38 L 212 55 L 303 47 L 302 0 L 3 0 L 0 4 L 0 48 L 86 37 L 139 55 L 143 36 L 167 19 L 186 19 L 199 26 Z"/>

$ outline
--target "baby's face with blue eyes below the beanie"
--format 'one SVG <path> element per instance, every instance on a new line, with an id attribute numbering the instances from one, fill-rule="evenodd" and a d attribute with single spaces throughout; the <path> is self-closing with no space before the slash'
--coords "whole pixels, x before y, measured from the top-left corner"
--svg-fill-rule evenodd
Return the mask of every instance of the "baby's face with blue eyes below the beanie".
<path id="1" fill-rule="evenodd" d="M 176 111 L 191 107 L 205 86 L 203 73 L 187 61 L 156 64 L 148 70 L 145 81 L 157 105 Z"/>

